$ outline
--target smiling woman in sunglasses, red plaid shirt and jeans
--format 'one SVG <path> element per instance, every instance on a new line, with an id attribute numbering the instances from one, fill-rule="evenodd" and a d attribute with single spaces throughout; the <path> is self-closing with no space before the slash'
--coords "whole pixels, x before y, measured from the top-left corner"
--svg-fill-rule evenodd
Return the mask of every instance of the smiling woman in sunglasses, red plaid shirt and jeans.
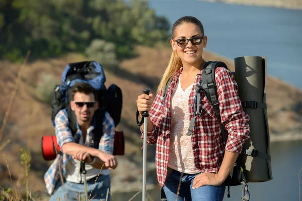
<path id="1" fill-rule="evenodd" d="M 185 201 L 222 200 L 224 180 L 244 142 L 250 139 L 250 118 L 242 109 L 237 83 L 231 72 L 217 67 L 215 82 L 219 109 L 221 122 L 229 133 L 228 140 L 226 144 L 223 142 L 213 107 L 203 91 L 201 116 L 197 116 L 191 135 L 187 135 L 189 124 L 196 116 L 195 86 L 206 64 L 202 53 L 207 37 L 201 22 L 190 16 L 173 24 L 172 37 L 173 53 L 154 101 L 152 93 L 141 94 L 136 101 L 140 117 L 142 112 L 149 112 L 146 138 L 148 144 L 157 144 L 158 181 L 168 201 L 174 201 L 176 197 Z M 172 82 L 164 94 L 163 89 L 170 77 Z M 140 131 L 143 134 L 143 125 Z"/>

